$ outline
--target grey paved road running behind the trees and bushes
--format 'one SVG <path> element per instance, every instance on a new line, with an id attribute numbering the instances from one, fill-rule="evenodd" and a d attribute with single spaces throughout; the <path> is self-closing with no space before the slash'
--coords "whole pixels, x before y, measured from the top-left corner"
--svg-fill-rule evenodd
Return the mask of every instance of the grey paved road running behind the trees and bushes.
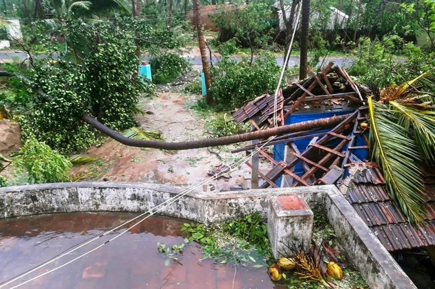
<path id="1" fill-rule="evenodd" d="M 40 56 L 40 57 L 42 57 L 42 56 Z M 200 57 L 191 57 L 191 56 L 183 56 L 183 57 L 186 58 L 193 65 L 201 65 L 202 64 Z M 12 53 L 12 52 L 0 52 L 0 59 L 14 59 L 14 58 L 21 58 L 22 60 L 24 60 L 27 58 L 27 54 L 25 54 L 25 53 Z M 238 61 L 240 61 L 241 58 L 236 57 L 236 59 Z M 145 60 L 145 61 L 148 60 L 148 57 L 144 57 L 143 60 Z M 219 60 L 218 58 L 212 57 L 213 63 L 216 63 L 218 60 Z M 325 62 L 328 63 L 330 61 L 334 61 L 338 65 L 341 65 L 341 66 L 349 66 L 350 64 L 352 64 L 351 58 L 327 58 Z M 284 58 L 277 57 L 276 62 L 278 63 L 278 65 L 282 65 L 282 63 L 284 62 Z M 289 66 L 295 66 L 298 64 L 299 64 L 299 58 L 296 58 L 296 57 L 291 57 L 288 61 Z"/>

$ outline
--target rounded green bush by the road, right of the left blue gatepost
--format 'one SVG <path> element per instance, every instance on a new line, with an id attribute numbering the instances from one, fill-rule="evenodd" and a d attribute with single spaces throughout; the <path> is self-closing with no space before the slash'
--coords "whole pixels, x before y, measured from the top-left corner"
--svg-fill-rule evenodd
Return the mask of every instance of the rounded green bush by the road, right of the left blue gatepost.
<path id="1" fill-rule="evenodd" d="M 153 82 L 166 84 L 174 81 L 189 67 L 189 62 L 179 55 L 166 53 L 150 60 Z"/>

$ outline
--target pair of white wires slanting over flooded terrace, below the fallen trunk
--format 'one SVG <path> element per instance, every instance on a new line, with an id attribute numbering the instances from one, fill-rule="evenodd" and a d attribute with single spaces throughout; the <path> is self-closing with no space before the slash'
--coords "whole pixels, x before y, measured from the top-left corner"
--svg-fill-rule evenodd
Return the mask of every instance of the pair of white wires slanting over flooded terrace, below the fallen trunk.
<path id="1" fill-rule="evenodd" d="M 128 223 L 131 223 L 132 221 L 134 221 L 134 220 L 136 220 L 136 219 L 138 219 L 138 218 L 140 218 L 140 217 L 142 217 L 142 216 L 144 216 L 144 215 L 146 215 L 146 214 L 150 214 L 150 215 L 146 216 L 145 218 L 143 218 L 142 220 L 140 220 L 139 222 L 137 222 L 136 224 L 134 224 L 133 226 L 131 226 L 130 228 L 126 229 L 125 231 L 121 232 L 120 234 L 116 235 L 115 237 L 109 239 L 108 241 L 106 241 L 106 242 L 104 242 L 104 243 L 98 245 L 97 247 L 95 247 L 95 248 L 93 248 L 93 249 L 87 251 L 86 253 L 83 253 L 82 255 L 80 255 L 80 256 L 78 256 L 78 257 L 76 257 L 76 258 L 74 258 L 74 259 L 68 261 L 68 262 L 65 263 L 65 264 L 62 264 L 62 265 L 60 265 L 60 266 L 58 266 L 58 267 L 56 267 L 56 268 L 53 268 L 52 270 L 49 270 L 49 271 L 47 271 L 47 272 L 44 272 L 44 273 L 42 273 L 42 274 L 40 274 L 40 275 L 37 275 L 37 276 L 35 276 L 35 277 L 33 277 L 33 278 L 27 280 L 27 281 L 22 282 L 22 283 L 20 283 L 20 284 L 14 286 L 14 287 L 11 287 L 11 289 L 18 288 L 18 287 L 20 287 L 20 286 L 22 286 L 22 285 L 25 285 L 25 284 L 27 284 L 27 283 L 29 283 L 29 282 L 31 282 L 31 281 L 33 281 L 33 280 L 39 278 L 39 277 L 42 277 L 42 276 L 44 276 L 44 275 L 47 275 L 47 274 L 49 274 L 49 273 L 51 273 L 51 272 L 54 272 L 54 271 L 56 271 L 56 270 L 59 270 L 59 269 L 65 267 L 65 266 L 71 264 L 72 262 L 74 262 L 74 261 L 76 261 L 76 260 L 78 260 L 78 259 L 80 259 L 80 258 L 86 256 L 87 254 L 89 254 L 89 253 L 91 253 L 91 252 L 97 250 L 98 248 L 102 247 L 102 246 L 105 245 L 106 243 L 108 243 L 108 242 L 110 242 L 110 241 L 112 241 L 112 240 L 114 240 L 114 239 L 120 237 L 121 235 L 123 235 L 123 234 L 126 233 L 127 231 L 131 230 L 132 228 L 134 228 L 135 226 L 137 226 L 137 225 L 140 224 L 141 222 L 145 221 L 146 219 L 148 219 L 148 218 L 151 217 L 152 215 L 154 215 L 154 214 L 156 214 L 157 212 L 160 212 L 161 210 L 163 210 L 163 209 L 167 208 L 168 206 L 172 205 L 175 201 L 177 201 L 178 199 L 180 199 L 181 197 L 183 197 L 183 196 L 186 195 L 187 193 L 191 192 L 191 191 L 194 190 L 195 188 L 197 188 L 197 187 L 199 187 L 199 186 L 201 186 L 201 185 L 203 185 L 203 184 L 205 184 L 205 183 L 208 183 L 208 182 L 210 182 L 210 181 L 212 181 L 212 180 L 214 180 L 214 179 L 220 177 L 221 175 L 223 175 L 223 174 L 225 174 L 225 173 L 231 173 L 231 172 L 236 171 L 236 168 L 237 168 L 239 165 L 241 165 L 243 162 L 245 162 L 247 159 L 249 159 L 252 155 L 258 153 L 258 152 L 259 152 L 259 151 L 260 151 L 260 150 L 261 150 L 261 149 L 262 149 L 262 148 L 263 148 L 267 143 L 269 143 L 270 141 L 272 141 L 275 137 L 276 137 L 276 136 L 272 136 L 269 140 L 267 140 L 267 142 L 265 142 L 264 144 L 262 144 L 261 147 L 259 147 L 257 150 L 253 151 L 253 152 L 252 152 L 251 154 L 249 154 L 248 156 L 245 156 L 244 158 L 242 158 L 242 159 L 240 159 L 239 161 L 235 162 L 235 163 L 232 164 L 230 167 L 228 167 L 227 169 L 221 171 L 220 173 L 218 173 L 218 174 L 216 174 L 216 175 L 214 175 L 214 176 L 212 176 L 212 177 L 209 177 L 209 178 L 207 178 L 207 179 L 205 179 L 205 180 L 199 182 L 198 184 L 196 184 L 196 185 L 194 185 L 194 186 L 192 186 L 192 187 L 190 187 L 190 188 L 187 188 L 187 189 L 184 190 L 184 191 L 181 191 L 180 193 L 176 194 L 174 197 L 172 197 L 172 198 L 166 200 L 165 202 L 161 203 L 160 205 L 157 205 L 156 207 L 150 209 L 149 211 L 147 211 L 147 212 L 145 212 L 145 213 L 142 213 L 142 214 L 140 214 L 139 216 L 137 216 L 137 217 L 135 217 L 135 218 L 133 218 L 133 219 L 131 219 L 131 220 L 129 220 L 129 221 L 123 223 L 122 225 L 119 225 L 119 226 L 115 227 L 114 229 L 111 229 L 111 230 L 109 230 L 109 231 L 106 231 L 106 232 L 104 232 L 103 234 L 101 234 L 101 235 L 99 235 L 99 236 L 97 236 L 97 237 L 95 237 L 95 238 L 93 238 L 93 239 L 90 239 L 90 240 L 87 241 L 86 243 L 84 243 L 84 244 L 82 244 L 82 245 L 80 245 L 80 246 L 78 246 L 78 247 L 76 247 L 76 248 L 74 248 L 74 249 L 71 249 L 71 250 L 69 250 L 68 252 L 65 252 L 65 253 L 59 255 L 58 257 L 56 257 L 56 258 L 54 258 L 54 259 L 51 259 L 51 260 L 49 260 L 49 261 L 47 261 L 47 262 L 45 262 L 45 263 L 39 265 L 38 267 L 35 267 L 35 268 L 33 268 L 32 270 L 30 270 L 30 271 L 28 271 L 28 272 L 26 272 L 26 273 L 23 273 L 23 274 L 21 274 L 21 275 L 15 277 L 15 278 L 13 278 L 13 279 L 7 281 L 7 282 L 1 284 L 1 285 L 0 285 L 0 288 L 3 288 L 3 287 L 5 287 L 6 285 L 11 284 L 12 282 L 15 282 L 15 281 L 17 281 L 18 279 L 21 279 L 22 277 L 24 277 L 24 276 L 26 276 L 26 275 L 29 275 L 30 273 L 35 272 L 36 270 L 41 269 L 42 267 L 44 267 L 44 266 L 46 266 L 46 265 L 48 265 L 48 264 L 51 264 L 51 263 L 53 263 L 53 262 L 56 261 L 56 260 L 59 260 L 60 258 L 62 258 L 62 257 L 64 257 L 64 256 L 66 256 L 66 255 L 68 255 L 68 254 L 70 254 L 70 253 L 72 253 L 72 252 L 74 252 L 74 251 L 76 251 L 76 250 L 78 250 L 78 249 L 80 249 L 80 248 L 86 246 L 87 244 L 89 244 L 89 243 L 91 243 L 91 242 L 93 242 L 93 241 L 99 239 L 100 237 L 102 237 L 102 236 L 104 236 L 104 235 L 106 235 L 106 234 L 108 234 L 108 233 L 110 233 L 110 232 L 113 232 L 113 231 L 119 229 L 120 227 L 122 227 L 122 226 L 124 226 L 124 225 L 126 225 L 126 224 L 128 224 Z M 230 170 L 232 170 L 232 171 L 230 171 Z M 168 204 L 166 204 L 166 203 L 168 203 Z M 166 204 L 166 205 L 163 206 L 164 204 Z M 163 207 L 161 207 L 161 206 L 163 206 Z M 161 207 L 161 208 L 159 208 L 159 207 Z M 159 209 L 158 209 L 158 208 L 159 208 Z M 155 210 L 155 211 L 154 211 L 154 210 Z"/>

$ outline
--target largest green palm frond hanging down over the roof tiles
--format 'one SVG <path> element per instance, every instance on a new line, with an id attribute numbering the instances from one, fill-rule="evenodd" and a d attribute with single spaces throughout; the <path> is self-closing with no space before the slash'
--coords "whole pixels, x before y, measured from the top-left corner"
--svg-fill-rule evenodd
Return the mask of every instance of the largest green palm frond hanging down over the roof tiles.
<path id="1" fill-rule="evenodd" d="M 395 111 L 373 101 L 372 97 L 368 99 L 368 106 L 372 157 L 383 170 L 391 198 L 412 224 L 420 224 L 427 212 L 416 141 L 398 124 Z"/>

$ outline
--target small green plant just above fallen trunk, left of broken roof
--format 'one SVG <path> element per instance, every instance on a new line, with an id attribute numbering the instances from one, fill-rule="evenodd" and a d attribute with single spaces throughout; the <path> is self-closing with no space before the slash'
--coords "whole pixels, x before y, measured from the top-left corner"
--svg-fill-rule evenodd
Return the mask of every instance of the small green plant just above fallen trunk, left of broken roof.
<path id="1" fill-rule="evenodd" d="M 228 136 L 246 132 L 243 124 L 237 124 L 234 118 L 228 113 L 220 113 L 206 122 L 207 131 L 213 137 Z"/>

